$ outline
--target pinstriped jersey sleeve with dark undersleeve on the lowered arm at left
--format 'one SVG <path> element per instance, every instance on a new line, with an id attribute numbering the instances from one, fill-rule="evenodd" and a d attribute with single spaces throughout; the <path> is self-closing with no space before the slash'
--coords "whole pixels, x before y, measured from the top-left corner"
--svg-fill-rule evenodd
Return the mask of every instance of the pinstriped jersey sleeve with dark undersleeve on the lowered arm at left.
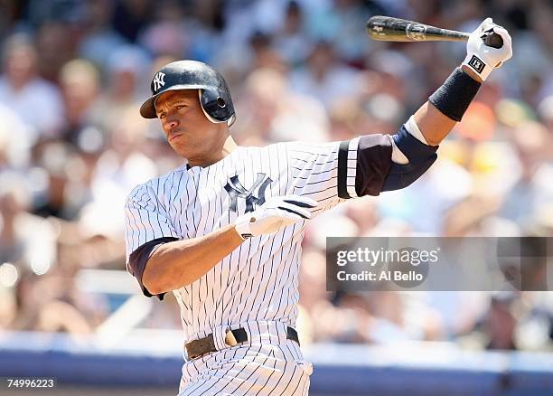
<path id="1" fill-rule="evenodd" d="M 147 184 L 138 185 L 128 195 L 125 205 L 125 242 L 127 270 L 136 278 L 146 297 L 153 296 L 142 282 L 147 260 L 158 245 L 178 239 L 155 191 Z M 163 299 L 164 294 L 157 297 Z"/>

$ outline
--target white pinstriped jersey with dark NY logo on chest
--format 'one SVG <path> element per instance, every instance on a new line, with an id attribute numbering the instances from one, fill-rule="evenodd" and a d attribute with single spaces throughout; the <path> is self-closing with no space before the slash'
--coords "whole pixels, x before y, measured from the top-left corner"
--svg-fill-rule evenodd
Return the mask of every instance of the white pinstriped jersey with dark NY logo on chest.
<path id="1" fill-rule="evenodd" d="M 319 203 L 314 215 L 343 201 L 338 196 L 338 152 L 351 197 L 359 138 L 350 142 L 278 143 L 238 147 L 218 163 L 183 165 L 138 185 L 126 205 L 128 257 L 150 240 L 192 239 L 235 222 L 270 196 L 297 194 Z M 347 167 L 347 170 L 346 170 Z M 181 307 L 186 338 L 216 327 L 256 321 L 295 325 L 298 273 L 305 221 L 275 234 L 245 240 L 192 284 L 173 290 Z"/>

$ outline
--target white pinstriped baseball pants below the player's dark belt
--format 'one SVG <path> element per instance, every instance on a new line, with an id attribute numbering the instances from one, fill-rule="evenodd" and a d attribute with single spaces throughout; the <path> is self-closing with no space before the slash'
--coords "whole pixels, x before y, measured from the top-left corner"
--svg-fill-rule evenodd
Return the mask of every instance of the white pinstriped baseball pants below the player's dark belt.
<path id="1" fill-rule="evenodd" d="M 312 371 L 295 341 L 254 339 L 184 363 L 179 396 L 307 395 Z"/>

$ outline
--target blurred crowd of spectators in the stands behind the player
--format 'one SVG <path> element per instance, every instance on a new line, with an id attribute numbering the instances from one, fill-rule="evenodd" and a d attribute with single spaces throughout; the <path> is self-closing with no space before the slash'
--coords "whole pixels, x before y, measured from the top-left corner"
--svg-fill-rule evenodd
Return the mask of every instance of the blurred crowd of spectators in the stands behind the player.
<path id="1" fill-rule="evenodd" d="M 471 32 L 505 26 L 494 71 L 405 190 L 344 203 L 306 231 L 305 342 L 455 341 L 548 350 L 547 292 L 325 291 L 327 236 L 553 236 L 553 4 L 548 0 L 0 0 L 0 328 L 94 333 L 113 311 L 83 269 L 125 269 L 123 205 L 181 165 L 140 118 L 178 59 L 225 76 L 243 146 L 394 133 L 464 59 L 458 42 L 373 42 L 374 14 Z M 130 275 L 129 275 L 130 277 Z M 178 328 L 172 298 L 142 325 Z"/>

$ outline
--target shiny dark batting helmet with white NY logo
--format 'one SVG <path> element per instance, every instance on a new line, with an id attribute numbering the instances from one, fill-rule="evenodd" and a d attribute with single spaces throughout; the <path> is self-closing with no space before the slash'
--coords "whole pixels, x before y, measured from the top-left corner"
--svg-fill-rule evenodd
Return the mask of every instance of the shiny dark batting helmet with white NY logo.
<path id="1" fill-rule="evenodd" d="M 203 113 L 211 122 L 232 125 L 235 118 L 230 90 L 219 71 L 201 61 L 173 61 L 155 73 L 152 97 L 140 107 L 144 118 L 155 118 L 155 100 L 168 90 L 199 90 Z"/>

